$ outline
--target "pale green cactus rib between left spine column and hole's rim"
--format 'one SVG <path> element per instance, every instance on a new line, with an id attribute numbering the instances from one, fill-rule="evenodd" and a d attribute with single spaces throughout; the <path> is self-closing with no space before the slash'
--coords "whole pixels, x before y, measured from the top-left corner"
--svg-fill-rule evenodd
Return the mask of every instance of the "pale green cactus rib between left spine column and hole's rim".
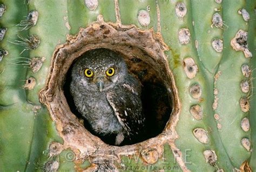
<path id="1" fill-rule="evenodd" d="M 58 8 L 52 8 L 58 6 Z M 36 79 L 36 85 L 31 90 L 26 90 L 27 99 L 29 102 L 39 104 L 38 94 L 44 86 L 46 77 L 48 76 L 49 65 L 51 62 L 52 52 L 55 46 L 65 42 L 66 34 L 69 34 L 69 23 L 64 18 L 68 15 L 68 3 L 66 2 L 48 2 L 48 1 L 29 1 L 28 9 L 37 10 L 39 13 L 37 25 L 29 30 L 30 35 L 38 35 L 41 40 L 40 45 L 35 50 L 29 53 L 31 58 L 45 58 L 43 66 L 36 73 L 29 69 L 26 73 L 26 78 L 33 77 Z M 68 24 L 67 24 L 68 23 Z M 58 27 L 58 30 L 53 29 Z"/>

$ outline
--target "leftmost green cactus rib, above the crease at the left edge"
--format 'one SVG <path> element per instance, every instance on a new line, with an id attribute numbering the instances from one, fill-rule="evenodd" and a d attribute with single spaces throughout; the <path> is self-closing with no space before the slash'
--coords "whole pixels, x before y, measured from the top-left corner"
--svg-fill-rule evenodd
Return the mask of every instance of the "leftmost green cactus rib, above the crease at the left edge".
<path id="1" fill-rule="evenodd" d="M 23 19 L 27 13 L 26 6 L 22 3 L 16 3 L 15 1 L 3 1 L 6 6 L 6 11 L 1 17 L 1 26 L 8 28 L 4 34 L 3 40 L 0 42 L 1 48 L 8 52 L 8 55 L 4 55 L 0 63 L 0 91 L 1 91 L 1 105 L 7 106 L 19 101 L 24 101 L 25 94 L 22 89 L 23 82 L 25 80 L 26 68 L 17 64 L 21 59 L 18 57 L 28 55 L 27 52 L 20 55 L 23 47 L 12 45 L 9 41 L 16 40 L 18 33 L 18 26 L 15 26 Z M 8 10 L 12 5 L 12 10 Z M 23 6 L 23 8 L 20 8 Z M 26 35 L 26 33 L 24 33 Z"/>

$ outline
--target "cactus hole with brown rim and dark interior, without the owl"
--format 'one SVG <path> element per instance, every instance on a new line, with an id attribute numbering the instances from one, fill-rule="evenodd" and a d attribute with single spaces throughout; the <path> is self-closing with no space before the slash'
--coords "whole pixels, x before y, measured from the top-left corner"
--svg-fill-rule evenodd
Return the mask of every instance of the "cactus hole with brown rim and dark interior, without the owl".
<path id="1" fill-rule="evenodd" d="M 87 131 L 72 113 L 72 105 L 68 104 L 69 98 L 65 97 L 66 92 L 64 93 L 68 71 L 75 59 L 96 48 L 108 48 L 121 53 L 130 73 L 137 76 L 144 85 L 142 100 L 145 109 L 149 106 L 152 108 L 145 110 L 145 116 L 149 121 L 154 121 L 154 124 L 147 123 L 150 134 L 144 139 L 154 138 L 136 145 L 113 147 Z M 140 154 L 140 149 L 152 148 L 161 155 L 166 142 L 175 148 L 174 140 L 178 137 L 175 126 L 179 118 L 180 103 L 173 75 L 164 54 L 167 49 L 160 35 L 154 34 L 152 30 L 142 31 L 134 26 L 105 23 L 102 18 L 98 18 L 97 22 L 87 28 L 81 28 L 76 36 L 69 36 L 65 44 L 56 48 L 48 81 L 39 97 L 48 107 L 57 131 L 63 138 L 64 147 L 71 148 L 76 154 L 76 159 L 91 156 L 96 149 L 114 148 L 114 155 L 111 151 L 105 151 L 104 156 L 100 155 L 101 159 L 105 157 L 107 161 L 111 158 L 112 161 L 113 156 L 118 160 L 120 155 Z M 163 134 L 159 134 L 160 132 Z M 133 150 L 129 152 L 127 149 Z"/>

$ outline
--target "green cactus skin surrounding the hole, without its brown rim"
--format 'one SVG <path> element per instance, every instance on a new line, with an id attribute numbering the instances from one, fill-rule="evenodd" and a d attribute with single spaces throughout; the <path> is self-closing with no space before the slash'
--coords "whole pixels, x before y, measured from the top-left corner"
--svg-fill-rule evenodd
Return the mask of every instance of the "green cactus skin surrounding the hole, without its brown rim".
<path id="1" fill-rule="evenodd" d="M 56 130 L 60 126 L 50 117 L 48 107 L 39 102 L 38 92 L 48 79 L 56 46 L 71 41 L 68 38 L 99 15 L 118 25 L 153 28 L 163 38 L 170 48 L 165 55 L 181 103 L 178 138 L 175 142 L 166 140 L 163 155 L 157 154 L 156 161 L 152 159 L 156 156 L 147 159 L 156 153 L 151 150 L 134 156 L 118 155 L 121 162 L 113 161 L 117 169 L 232 171 L 244 162 L 256 169 L 255 1 L 2 3 L 6 10 L 0 22 L 6 31 L 0 48 L 8 53 L 0 57 L 1 171 L 95 168 L 89 157 L 75 159 L 77 153 L 60 138 L 62 134 Z M 31 11 L 38 12 L 35 24 L 25 17 Z M 32 36 L 38 44 L 28 41 Z M 55 142 L 62 146 L 54 152 L 51 145 Z"/>

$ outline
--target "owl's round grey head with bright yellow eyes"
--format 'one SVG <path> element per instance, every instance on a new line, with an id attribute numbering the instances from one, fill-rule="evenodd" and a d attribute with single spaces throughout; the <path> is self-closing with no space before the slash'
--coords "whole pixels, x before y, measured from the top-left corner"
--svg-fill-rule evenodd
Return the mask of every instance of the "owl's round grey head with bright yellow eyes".
<path id="1" fill-rule="evenodd" d="M 91 91 L 103 91 L 123 83 L 128 75 L 124 59 L 110 49 L 87 51 L 73 64 L 72 80 Z"/>

